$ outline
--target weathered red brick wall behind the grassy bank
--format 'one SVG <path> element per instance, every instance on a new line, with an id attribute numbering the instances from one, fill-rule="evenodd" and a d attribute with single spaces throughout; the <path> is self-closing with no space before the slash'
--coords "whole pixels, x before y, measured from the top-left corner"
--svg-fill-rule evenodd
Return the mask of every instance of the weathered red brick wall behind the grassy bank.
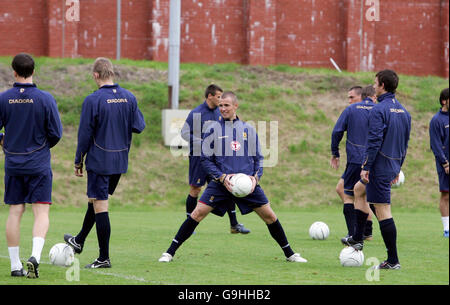
<path id="1" fill-rule="evenodd" d="M 0 55 L 116 58 L 115 0 L 0 0 Z M 122 58 L 167 61 L 169 0 L 121 0 Z M 372 1 L 377 2 L 376 0 Z M 182 0 L 182 62 L 449 76 L 449 1 Z M 63 46 L 64 44 L 64 46 Z"/>

